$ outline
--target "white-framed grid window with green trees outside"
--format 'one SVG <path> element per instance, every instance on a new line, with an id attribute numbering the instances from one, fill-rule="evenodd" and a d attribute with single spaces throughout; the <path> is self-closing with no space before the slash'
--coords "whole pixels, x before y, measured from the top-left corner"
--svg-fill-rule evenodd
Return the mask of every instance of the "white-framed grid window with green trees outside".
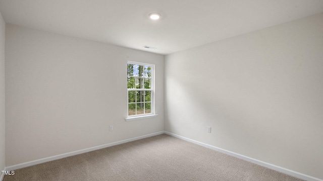
<path id="1" fill-rule="evenodd" d="M 153 115 L 153 69 L 151 64 L 128 62 L 128 118 Z"/>

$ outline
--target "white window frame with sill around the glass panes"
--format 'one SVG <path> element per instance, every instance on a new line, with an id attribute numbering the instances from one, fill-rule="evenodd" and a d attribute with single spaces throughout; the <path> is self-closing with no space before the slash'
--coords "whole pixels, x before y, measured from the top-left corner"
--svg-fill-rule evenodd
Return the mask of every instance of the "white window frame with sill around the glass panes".
<path id="1" fill-rule="evenodd" d="M 141 66 L 150 66 L 150 88 L 128 88 L 127 87 L 127 118 L 126 121 L 133 121 L 133 120 L 138 120 L 138 119 L 145 119 L 145 118 L 152 118 L 156 117 L 157 115 L 155 114 L 155 65 L 154 64 L 149 64 L 149 63 L 142 63 L 142 62 L 134 62 L 134 61 L 128 61 L 128 64 L 134 64 L 134 65 L 141 65 Z M 128 75 L 127 75 L 128 77 Z M 150 113 L 146 114 L 139 114 L 139 115 L 130 115 L 129 116 L 129 91 L 151 91 L 150 95 Z M 137 104 L 137 103 L 136 103 Z"/>

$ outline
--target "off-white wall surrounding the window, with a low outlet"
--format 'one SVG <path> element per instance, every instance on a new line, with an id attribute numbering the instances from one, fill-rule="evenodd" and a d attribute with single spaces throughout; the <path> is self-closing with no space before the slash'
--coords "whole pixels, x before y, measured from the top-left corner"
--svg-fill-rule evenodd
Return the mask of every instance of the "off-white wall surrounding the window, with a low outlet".
<path id="1" fill-rule="evenodd" d="M 128 60 L 155 64 L 156 118 L 125 121 Z M 7 24 L 6 92 L 6 166 L 164 130 L 162 55 Z"/>

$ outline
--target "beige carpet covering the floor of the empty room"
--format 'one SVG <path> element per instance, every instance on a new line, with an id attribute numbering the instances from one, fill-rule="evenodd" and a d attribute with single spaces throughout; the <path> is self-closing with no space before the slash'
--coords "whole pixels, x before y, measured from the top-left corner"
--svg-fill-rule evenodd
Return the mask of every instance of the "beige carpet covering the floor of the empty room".
<path id="1" fill-rule="evenodd" d="M 10 180 L 301 180 L 166 134 L 15 170 Z"/>

